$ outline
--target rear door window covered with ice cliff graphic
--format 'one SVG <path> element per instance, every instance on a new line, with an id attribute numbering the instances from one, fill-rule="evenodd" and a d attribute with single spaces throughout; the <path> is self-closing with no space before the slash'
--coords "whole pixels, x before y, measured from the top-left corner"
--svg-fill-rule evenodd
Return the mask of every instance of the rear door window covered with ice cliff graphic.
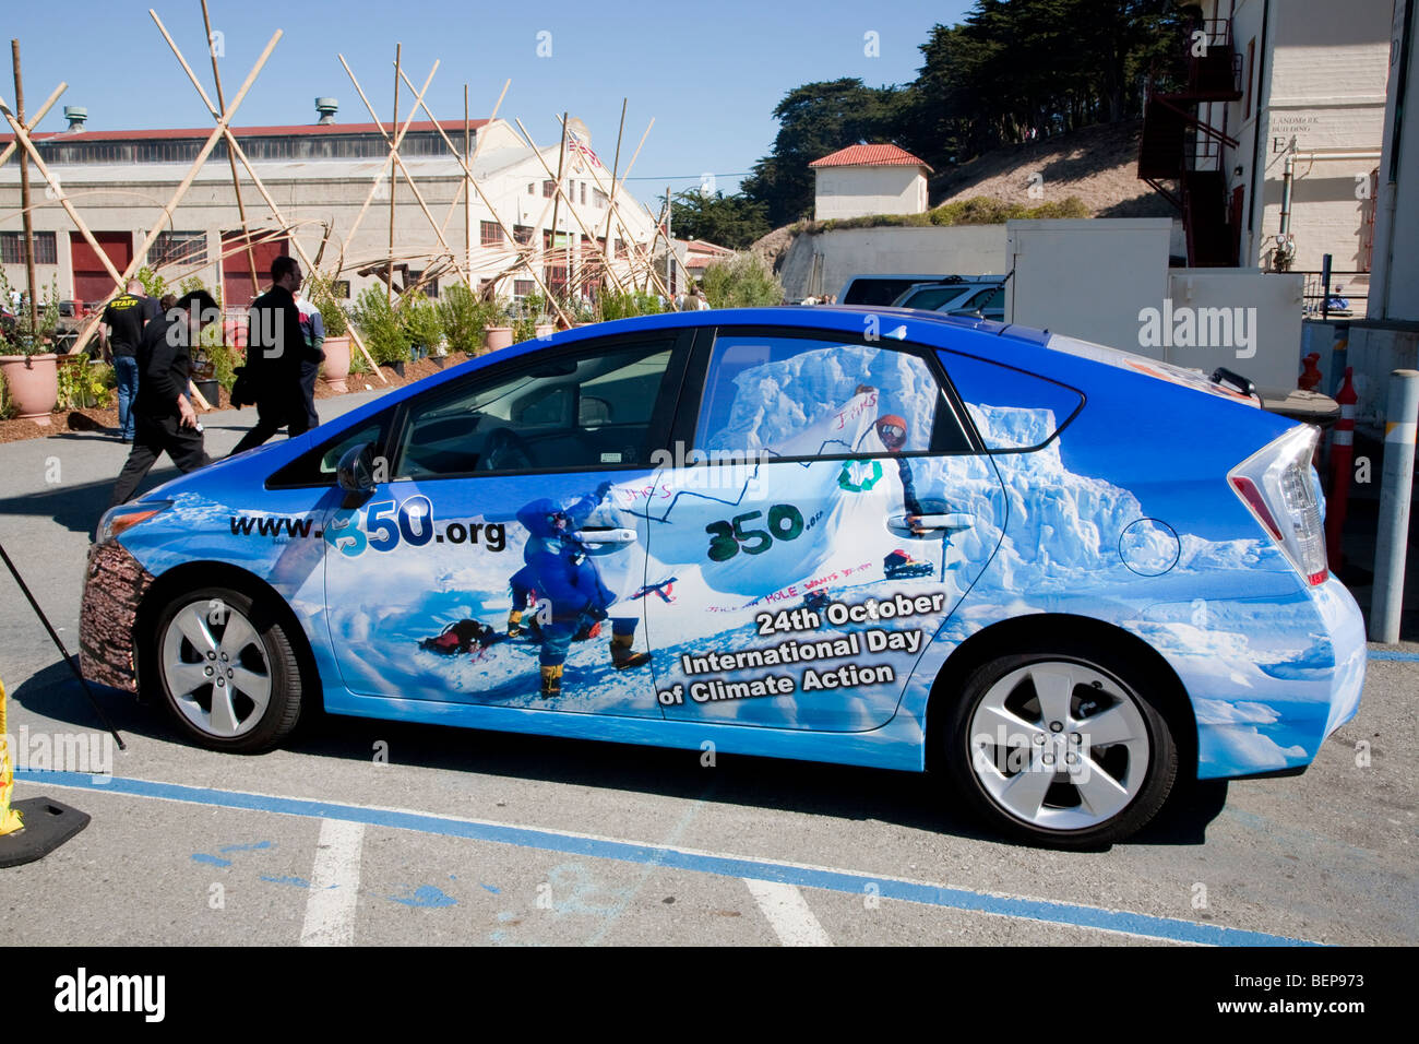
<path id="1" fill-rule="evenodd" d="M 721 332 L 695 449 L 820 457 L 965 452 L 968 436 L 931 364 L 905 347 Z"/>

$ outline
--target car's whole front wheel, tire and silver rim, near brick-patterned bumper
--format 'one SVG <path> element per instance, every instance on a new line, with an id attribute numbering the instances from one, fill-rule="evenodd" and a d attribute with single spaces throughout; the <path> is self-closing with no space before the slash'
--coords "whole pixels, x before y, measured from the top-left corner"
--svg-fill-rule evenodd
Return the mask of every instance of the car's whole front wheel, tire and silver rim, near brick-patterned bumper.
<path id="1" fill-rule="evenodd" d="M 158 621 L 153 662 L 169 709 L 213 750 L 275 747 L 301 717 L 301 669 L 287 625 L 231 588 L 175 598 Z"/>

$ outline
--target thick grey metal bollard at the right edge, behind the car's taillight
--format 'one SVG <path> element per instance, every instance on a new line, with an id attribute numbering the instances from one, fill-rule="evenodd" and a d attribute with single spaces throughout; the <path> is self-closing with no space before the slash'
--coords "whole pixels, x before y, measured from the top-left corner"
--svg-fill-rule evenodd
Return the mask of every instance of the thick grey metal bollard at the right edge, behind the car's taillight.
<path id="1" fill-rule="evenodd" d="M 1372 642 L 1399 641 L 1416 428 L 1419 428 L 1419 369 L 1396 369 L 1389 375 L 1389 405 L 1385 409 L 1385 472 L 1379 487 L 1375 592 L 1369 605 Z"/>

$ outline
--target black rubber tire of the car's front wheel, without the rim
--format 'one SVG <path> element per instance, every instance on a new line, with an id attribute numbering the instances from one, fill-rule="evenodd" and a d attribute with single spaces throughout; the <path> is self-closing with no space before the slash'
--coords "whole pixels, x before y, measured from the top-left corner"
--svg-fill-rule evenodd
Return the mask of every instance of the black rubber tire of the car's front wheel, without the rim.
<path id="1" fill-rule="evenodd" d="M 214 607 L 223 607 L 223 611 L 214 612 Z M 165 642 L 179 614 L 193 609 L 201 612 L 209 621 L 217 621 L 211 624 L 214 636 L 226 634 L 226 626 L 228 626 L 226 621 L 236 619 L 233 612 L 240 614 L 254 632 L 254 638 L 247 649 L 248 663 L 254 665 L 250 656 L 255 655 L 255 646 L 260 646 L 260 653 L 264 656 L 261 666 L 265 669 L 264 673 L 270 682 L 267 705 L 264 710 L 260 713 L 253 712 L 241 722 L 240 734 L 223 736 L 203 729 L 192 716 L 200 712 L 200 706 L 196 709 L 193 706 L 194 703 L 201 703 L 200 690 L 194 699 L 182 702 L 179 702 L 180 693 L 175 693 L 173 690 L 170 678 L 175 675 L 170 672 L 167 662 L 165 662 Z M 162 693 L 163 702 L 177 722 L 179 729 L 210 750 L 258 754 L 280 746 L 301 720 L 304 702 L 304 679 L 295 645 L 299 639 L 288 634 L 288 629 L 289 624 L 285 618 L 275 612 L 274 607 L 267 604 L 265 599 L 253 599 L 251 595 L 234 588 L 203 587 L 173 598 L 158 616 L 158 625 L 148 639 L 149 648 L 145 659 L 152 669 L 153 689 Z M 182 639 L 176 641 L 180 642 Z M 192 651 L 193 646 L 189 642 L 184 652 L 190 653 Z M 196 663 L 184 666 L 200 665 L 201 659 L 197 659 Z M 209 686 L 209 705 L 211 699 L 210 693 L 211 689 Z M 244 696 L 234 696 L 233 705 L 243 705 L 243 700 L 245 700 Z M 245 700 L 245 703 L 250 703 L 250 700 Z M 186 710 L 184 706 L 187 707 Z"/>

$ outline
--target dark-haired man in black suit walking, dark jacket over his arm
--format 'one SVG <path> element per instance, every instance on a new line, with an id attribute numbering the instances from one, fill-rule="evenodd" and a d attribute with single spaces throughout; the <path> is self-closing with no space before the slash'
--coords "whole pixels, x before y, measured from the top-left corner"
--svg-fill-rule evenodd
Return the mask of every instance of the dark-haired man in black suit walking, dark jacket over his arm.
<path id="1" fill-rule="evenodd" d="M 311 426 L 305 393 L 301 389 L 301 364 L 319 364 L 301 328 L 295 291 L 301 288 L 301 266 L 294 257 L 281 256 L 271 263 L 271 290 L 251 303 L 247 325 L 245 376 L 255 389 L 257 423 L 233 453 L 260 446 L 282 428 L 294 439 Z"/>

